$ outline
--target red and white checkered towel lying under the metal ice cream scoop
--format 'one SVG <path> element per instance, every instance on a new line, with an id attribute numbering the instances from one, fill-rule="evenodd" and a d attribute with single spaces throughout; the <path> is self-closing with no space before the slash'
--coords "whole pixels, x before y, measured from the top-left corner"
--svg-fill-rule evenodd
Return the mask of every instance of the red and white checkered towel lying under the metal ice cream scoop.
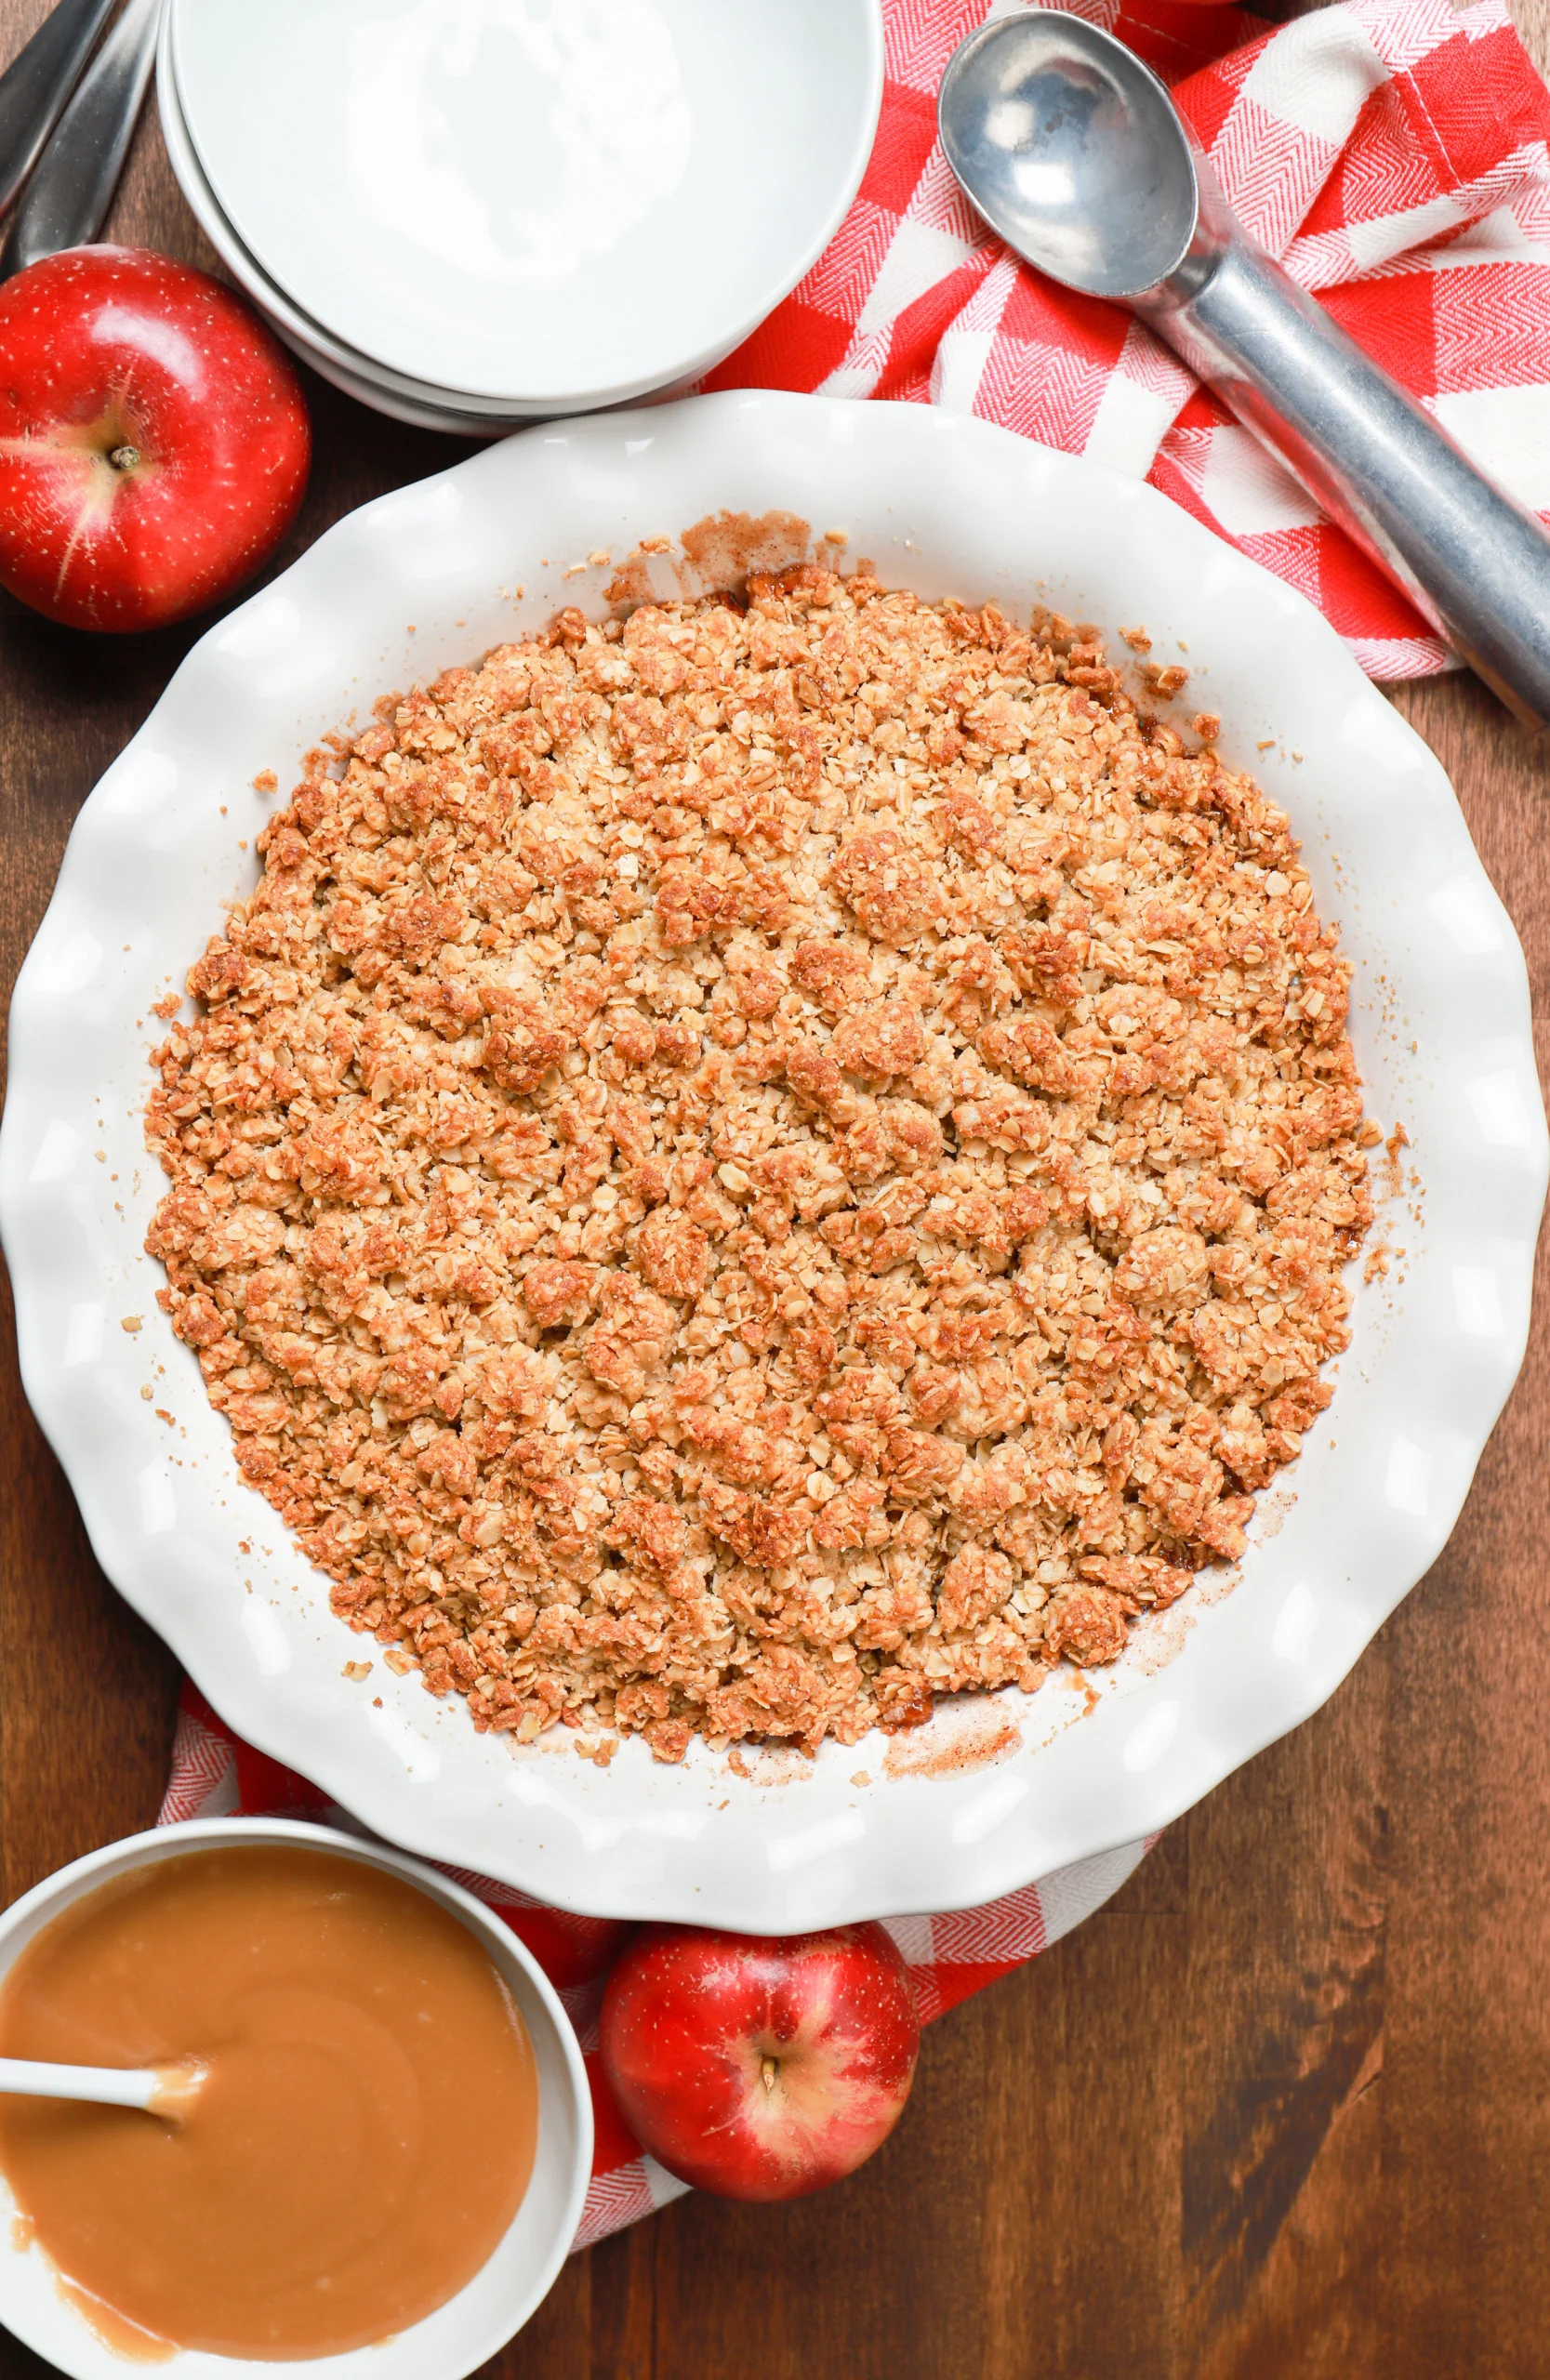
<path id="1" fill-rule="evenodd" d="M 1017 5 L 1017 0 L 1012 0 Z M 1374 678 L 1448 647 L 1124 307 L 1017 264 L 936 145 L 955 45 L 1007 0 L 883 0 L 860 198 L 705 381 L 917 397 L 1150 478 L 1312 597 Z M 1245 226 L 1526 505 L 1550 516 L 1550 93 L 1500 0 L 1074 0 L 1164 76 Z"/>

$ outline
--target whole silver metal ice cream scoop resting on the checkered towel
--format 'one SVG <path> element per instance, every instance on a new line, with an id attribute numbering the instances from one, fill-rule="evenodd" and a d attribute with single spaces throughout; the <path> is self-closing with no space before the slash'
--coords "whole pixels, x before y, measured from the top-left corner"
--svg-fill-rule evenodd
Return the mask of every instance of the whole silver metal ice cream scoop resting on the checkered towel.
<path id="1" fill-rule="evenodd" d="M 1550 533 L 1250 240 L 1124 43 L 998 17 L 948 62 L 938 126 L 1010 248 L 1133 307 L 1521 719 L 1550 719 Z"/>

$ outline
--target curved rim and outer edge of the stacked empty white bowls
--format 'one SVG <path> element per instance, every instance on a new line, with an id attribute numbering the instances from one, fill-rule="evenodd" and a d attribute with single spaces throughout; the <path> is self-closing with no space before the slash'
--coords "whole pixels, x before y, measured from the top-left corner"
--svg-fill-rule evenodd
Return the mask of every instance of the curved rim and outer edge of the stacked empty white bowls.
<path id="1" fill-rule="evenodd" d="M 690 355 L 671 357 L 667 362 L 657 359 L 648 371 L 626 376 L 621 381 L 600 383 L 595 388 L 586 388 L 586 386 L 581 386 L 581 388 L 562 388 L 562 386 L 555 386 L 555 388 L 538 388 L 538 390 L 510 390 L 510 388 L 493 388 L 493 386 L 486 386 L 486 388 L 467 386 L 464 388 L 464 386 L 448 383 L 445 386 L 445 397 L 450 400 L 452 407 L 457 407 L 462 400 L 467 400 L 471 407 L 479 407 L 479 405 L 507 405 L 510 409 L 521 409 L 521 412 L 533 412 L 533 414 L 552 416 L 552 414 L 590 412 L 590 409 L 598 409 L 598 407 L 633 405 L 640 397 L 648 397 L 648 395 L 652 395 L 660 388 L 679 388 L 679 386 L 686 386 L 686 383 L 700 378 L 702 374 L 712 371 L 714 364 L 719 364 L 736 347 L 740 347 L 743 340 L 750 338 L 752 331 L 757 331 L 760 324 L 769 314 L 774 314 L 774 309 L 812 271 L 812 267 L 819 262 L 819 257 L 824 255 L 824 250 L 833 240 L 836 231 L 845 221 L 845 217 L 848 217 L 848 212 L 850 212 L 850 207 L 852 207 L 852 202 L 855 202 L 855 198 L 857 198 L 857 193 L 862 188 L 862 181 L 867 176 L 867 167 L 871 162 L 871 150 L 874 150 L 874 143 L 876 143 L 876 129 L 879 129 L 881 112 L 883 112 L 883 79 L 886 79 L 883 0 L 848 0 L 848 5 L 852 5 L 852 7 L 860 10 L 860 24 L 862 24 L 864 52 L 867 52 L 864 55 L 864 83 L 857 90 L 857 129 L 855 129 L 855 148 L 852 148 L 852 155 L 850 155 L 848 171 L 845 171 L 845 176 L 840 181 L 836 181 L 833 200 L 826 207 L 826 212 L 824 212 L 817 231 L 807 238 L 807 245 L 800 250 L 798 257 L 788 259 L 788 264 L 783 264 L 776 274 L 769 276 L 769 281 L 760 288 L 757 300 L 748 300 L 745 302 L 743 314 L 738 317 L 736 328 L 726 331 L 726 333 L 717 333 L 707 345 L 693 350 Z M 162 55 L 167 57 L 167 62 L 171 64 L 171 71 L 176 76 L 179 0 L 164 0 L 164 12 L 162 14 L 164 14 L 164 21 L 162 21 L 160 48 L 162 48 Z M 221 217 L 231 224 L 231 228 L 240 238 L 243 248 L 255 257 L 255 262 L 262 264 L 262 259 L 257 255 L 257 248 L 252 248 L 252 243 L 240 231 L 236 217 L 231 214 L 231 209 L 226 207 L 226 202 L 219 198 L 219 186 L 214 181 L 214 174 L 205 164 L 198 136 L 195 136 L 193 124 L 188 121 L 188 114 L 183 109 L 181 90 L 179 90 L 176 105 L 179 105 L 179 117 L 181 117 L 181 124 L 183 124 L 183 133 L 188 138 L 188 148 L 195 155 L 195 159 L 200 162 L 200 174 L 202 174 L 205 183 L 210 186 L 210 193 L 217 200 L 217 205 L 221 209 Z M 271 286 L 279 286 L 267 269 L 264 269 L 264 278 Z M 288 302 L 295 305 L 295 300 L 288 300 Z M 312 317 L 305 317 L 305 319 L 312 319 Z M 319 326 L 319 328 L 326 331 L 326 336 L 331 338 L 333 345 L 345 345 L 326 326 Z M 376 355 L 369 355 L 367 350 L 355 350 L 355 352 L 362 352 L 367 357 L 367 367 L 369 369 L 367 369 L 367 374 L 362 374 L 364 378 L 374 378 L 376 371 L 381 369 L 381 371 L 390 371 L 393 374 L 393 383 L 414 383 L 414 386 L 402 386 L 400 388 L 400 395 L 405 395 L 405 397 L 410 397 L 414 402 L 421 402 L 419 395 L 417 395 L 417 388 L 433 386 L 433 383 L 426 383 L 426 381 L 417 381 L 417 376 L 405 374 L 402 369 L 386 364 L 386 359 L 379 359 Z M 345 357 L 340 357 L 338 362 L 345 362 L 345 369 L 352 369 Z M 383 386 L 393 386 L 393 383 L 383 383 Z"/>

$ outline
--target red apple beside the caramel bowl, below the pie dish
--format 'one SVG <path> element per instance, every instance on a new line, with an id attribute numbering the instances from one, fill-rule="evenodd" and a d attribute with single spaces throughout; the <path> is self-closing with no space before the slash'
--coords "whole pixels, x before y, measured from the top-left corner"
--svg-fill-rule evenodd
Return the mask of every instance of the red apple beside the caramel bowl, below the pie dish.
<path id="1" fill-rule="evenodd" d="M 843 2180 L 898 2123 L 919 2049 L 881 1925 L 729 1935 L 643 1925 L 607 1978 L 602 2066 L 643 2149 L 724 2199 Z"/>

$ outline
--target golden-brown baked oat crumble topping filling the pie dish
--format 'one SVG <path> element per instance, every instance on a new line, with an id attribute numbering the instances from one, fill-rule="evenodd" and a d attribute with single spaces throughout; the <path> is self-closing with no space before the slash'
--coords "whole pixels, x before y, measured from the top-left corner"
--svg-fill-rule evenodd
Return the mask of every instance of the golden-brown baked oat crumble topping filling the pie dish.
<path id="1" fill-rule="evenodd" d="M 1090 640 L 812 566 L 567 612 L 262 847 L 148 1247 L 476 1728 L 855 1742 L 1243 1549 L 1376 1130 L 1286 819 Z"/>

